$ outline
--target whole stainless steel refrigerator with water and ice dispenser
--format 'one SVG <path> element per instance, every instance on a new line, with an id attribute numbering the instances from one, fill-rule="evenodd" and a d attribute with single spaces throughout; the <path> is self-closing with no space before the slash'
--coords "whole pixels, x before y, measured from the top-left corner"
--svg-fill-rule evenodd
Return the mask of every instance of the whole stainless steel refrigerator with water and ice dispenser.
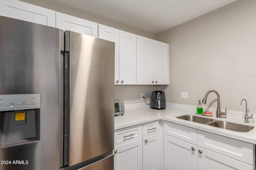
<path id="1" fill-rule="evenodd" d="M 113 170 L 113 80 L 114 43 L 0 16 L 0 170 Z"/>

